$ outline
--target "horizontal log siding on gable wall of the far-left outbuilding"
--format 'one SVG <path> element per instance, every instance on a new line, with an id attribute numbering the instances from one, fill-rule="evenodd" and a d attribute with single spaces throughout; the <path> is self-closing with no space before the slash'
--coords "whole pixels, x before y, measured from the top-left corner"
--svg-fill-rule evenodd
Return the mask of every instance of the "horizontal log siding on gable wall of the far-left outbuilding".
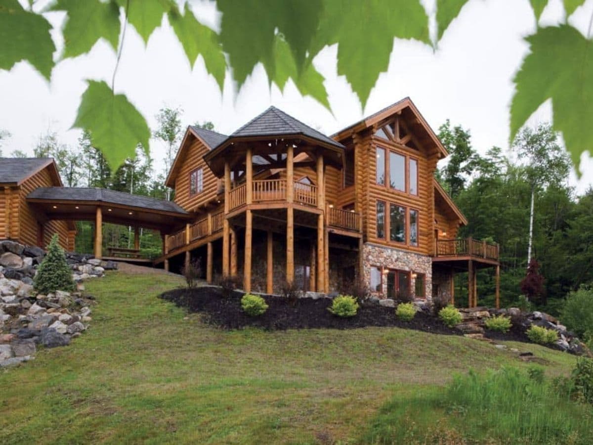
<path id="1" fill-rule="evenodd" d="M 47 169 L 39 171 L 21 184 L 18 193 L 18 218 L 14 218 L 15 222 L 18 220 L 18 240 L 21 243 L 32 246 L 37 244 L 37 218 L 33 209 L 27 204 L 27 195 L 39 187 L 55 185 Z M 17 201 L 16 196 L 13 198 Z M 58 234 L 60 246 L 63 249 L 68 249 L 68 222 L 66 221 L 48 221 L 44 224 L 44 245 L 42 247 L 49 244 L 54 233 Z"/>

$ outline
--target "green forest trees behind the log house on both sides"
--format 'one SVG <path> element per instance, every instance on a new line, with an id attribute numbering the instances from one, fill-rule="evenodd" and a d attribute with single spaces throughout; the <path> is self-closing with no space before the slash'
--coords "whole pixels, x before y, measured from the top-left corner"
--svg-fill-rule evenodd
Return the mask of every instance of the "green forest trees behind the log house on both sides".
<path id="1" fill-rule="evenodd" d="M 165 107 L 157 116 L 158 128 L 152 135 L 167 147 L 159 163 L 162 170 L 155 169 L 154 160 L 139 146 L 136 157 L 126 159 L 113 172 L 87 133 L 81 135 L 77 147 L 68 147 L 48 132 L 39 138 L 34 155 L 55 158 L 65 186 L 103 187 L 173 199 L 173 190 L 164 182 L 183 136 L 182 113 L 179 107 Z M 211 122 L 195 125 L 213 129 Z M 557 314 L 570 291 L 593 282 L 593 190 L 578 196 L 568 186 L 570 160 L 556 133 L 547 124 L 526 128 L 508 152 L 492 147 L 484 155 L 472 147 L 470 131 L 461 125 L 445 122 L 439 128 L 439 138 L 449 157 L 439 166 L 436 177 L 469 221 L 461 228 L 460 237 L 500 244 L 501 305 L 524 304 L 519 295 L 527 294 L 531 303 Z M 10 155 L 25 156 L 21 151 Z M 76 250 L 92 252 L 92 237 L 91 222 L 78 222 Z M 105 224 L 104 244 L 132 246 L 132 228 Z M 159 255 L 160 234 L 142 231 L 140 245 L 146 258 Z M 530 259 L 535 269 L 528 280 L 531 284 L 525 284 Z M 480 271 L 481 305 L 493 306 L 494 290 L 492 271 Z M 467 274 L 457 275 L 455 301 L 460 306 L 467 304 Z"/>

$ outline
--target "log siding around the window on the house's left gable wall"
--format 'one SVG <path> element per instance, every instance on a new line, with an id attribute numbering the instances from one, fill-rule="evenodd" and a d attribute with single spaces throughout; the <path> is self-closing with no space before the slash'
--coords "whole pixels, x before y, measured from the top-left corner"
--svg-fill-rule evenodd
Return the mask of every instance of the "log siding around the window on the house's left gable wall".
<path id="1" fill-rule="evenodd" d="M 181 166 L 175 178 L 175 202 L 186 211 L 196 211 L 196 208 L 206 204 L 216 198 L 218 192 L 217 178 L 212 170 L 206 165 L 203 156 L 208 152 L 208 148 L 199 139 L 187 141 L 190 144 L 181 159 Z M 203 191 L 190 195 L 189 174 L 196 169 L 203 171 Z"/>

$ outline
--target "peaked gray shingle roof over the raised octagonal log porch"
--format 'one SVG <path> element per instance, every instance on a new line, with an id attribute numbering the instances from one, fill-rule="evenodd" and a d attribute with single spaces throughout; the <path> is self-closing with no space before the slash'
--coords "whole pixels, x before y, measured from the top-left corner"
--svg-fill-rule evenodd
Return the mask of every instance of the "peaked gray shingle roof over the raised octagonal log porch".
<path id="1" fill-rule="evenodd" d="M 269 107 L 269 109 L 264 111 L 261 115 L 251 119 L 231 134 L 229 139 L 234 137 L 275 135 L 303 135 L 333 145 L 334 147 L 344 148 L 339 142 L 328 138 L 323 133 L 302 123 L 300 120 L 287 115 L 276 107 Z M 222 145 L 222 142 L 219 145 Z"/>

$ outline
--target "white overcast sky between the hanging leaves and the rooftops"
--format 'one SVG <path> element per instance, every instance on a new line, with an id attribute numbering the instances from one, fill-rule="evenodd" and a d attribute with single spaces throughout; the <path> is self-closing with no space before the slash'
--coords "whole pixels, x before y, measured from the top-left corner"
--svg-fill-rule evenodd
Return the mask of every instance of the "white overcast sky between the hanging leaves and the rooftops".
<path id="1" fill-rule="evenodd" d="M 203 23 L 218 27 L 220 17 L 215 4 L 193 1 L 192 6 Z M 425 0 L 425 6 L 433 21 L 434 0 Z M 593 0 L 588 0 L 570 23 L 583 32 L 592 9 Z M 59 28 L 64 14 L 52 12 L 46 17 Z M 561 0 L 551 0 L 541 23 L 562 20 Z M 528 0 L 471 0 L 451 24 L 436 52 L 417 42 L 396 40 L 389 70 L 381 74 L 365 110 L 345 78 L 337 76 L 336 47 L 327 47 L 314 64 L 326 78 L 332 115 L 313 99 L 299 96 L 292 84 L 284 94 L 276 87 L 270 91 L 261 66 L 256 67 L 238 92 L 227 74 L 221 94 L 201 58 L 190 70 L 165 19 L 147 47 L 133 27 L 127 28 L 115 89 L 116 93 L 127 95 L 151 128 L 156 127 L 155 115 L 161 107 L 181 106 L 184 125 L 211 120 L 216 131 L 224 134 L 272 104 L 331 134 L 410 96 L 435 131 L 445 119 L 451 119 L 452 123 L 470 129 L 474 148 L 483 153 L 493 145 L 508 148 L 512 78 L 528 50 L 522 37 L 534 29 Z M 59 33 L 53 37 L 59 52 Z M 79 131 L 69 128 L 86 88 L 84 80 L 102 79 L 110 83 L 115 61 L 113 49 L 100 41 L 88 55 L 60 62 L 50 84 L 28 63 L 18 63 L 10 72 L 0 71 L 0 129 L 12 134 L 8 141 L 3 141 L 4 155 L 16 149 L 32 154 L 39 136 L 48 130 L 57 132 L 61 142 L 75 146 Z M 547 120 L 550 106 L 544 104 L 531 123 Z M 162 170 L 164 145 L 153 140 L 151 150 L 155 166 Z M 588 154 L 581 159 L 581 171 L 581 180 L 577 181 L 572 174 L 570 183 L 582 193 L 593 184 L 593 160 Z"/>

